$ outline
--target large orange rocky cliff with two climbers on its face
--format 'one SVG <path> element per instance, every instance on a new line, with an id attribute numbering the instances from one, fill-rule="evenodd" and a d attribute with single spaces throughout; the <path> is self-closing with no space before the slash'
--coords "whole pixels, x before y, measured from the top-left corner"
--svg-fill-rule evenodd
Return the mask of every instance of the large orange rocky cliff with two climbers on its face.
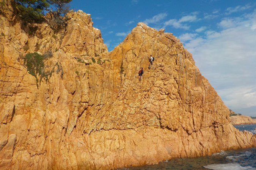
<path id="1" fill-rule="evenodd" d="M 9 3 L 0 14 L 0 168 L 114 169 L 255 147 L 171 33 L 138 23 L 108 53 L 90 15 L 68 15 L 62 31 L 31 34 Z"/>

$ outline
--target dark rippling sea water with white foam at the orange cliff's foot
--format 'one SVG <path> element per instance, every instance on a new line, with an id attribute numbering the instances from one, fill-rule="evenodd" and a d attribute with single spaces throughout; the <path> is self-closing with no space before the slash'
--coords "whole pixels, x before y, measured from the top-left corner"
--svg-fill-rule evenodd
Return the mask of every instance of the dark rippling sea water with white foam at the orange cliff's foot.
<path id="1" fill-rule="evenodd" d="M 248 130 L 255 134 L 254 125 L 234 125 L 240 131 Z M 175 158 L 157 165 L 119 168 L 127 170 L 166 170 L 166 169 L 213 169 L 213 170 L 256 170 L 256 148 L 221 151 L 212 156 L 198 158 Z"/>

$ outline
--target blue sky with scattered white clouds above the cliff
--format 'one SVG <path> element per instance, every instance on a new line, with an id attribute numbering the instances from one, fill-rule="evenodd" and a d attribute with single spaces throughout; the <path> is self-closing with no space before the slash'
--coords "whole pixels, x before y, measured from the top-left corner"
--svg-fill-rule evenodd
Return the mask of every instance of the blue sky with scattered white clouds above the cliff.
<path id="1" fill-rule="evenodd" d="M 70 6 L 91 14 L 108 51 L 138 22 L 173 33 L 225 104 L 256 116 L 255 0 L 73 0 Z"/>

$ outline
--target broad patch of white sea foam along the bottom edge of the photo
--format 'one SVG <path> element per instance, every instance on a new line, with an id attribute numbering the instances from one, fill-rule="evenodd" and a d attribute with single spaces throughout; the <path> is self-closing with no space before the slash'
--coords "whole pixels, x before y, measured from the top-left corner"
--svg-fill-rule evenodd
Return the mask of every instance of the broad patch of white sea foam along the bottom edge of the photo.
<path id="1" fill-rule="evenodd" d="M 239 164 L 210 164 L 210 165 L 206 165 L 204 166 L 207 169 L 213 169 L 213 170 L 242 170 L 242 169 L 254 169 L 251 166 L 247 166 L 247 167 L 242 167 Z"/>

